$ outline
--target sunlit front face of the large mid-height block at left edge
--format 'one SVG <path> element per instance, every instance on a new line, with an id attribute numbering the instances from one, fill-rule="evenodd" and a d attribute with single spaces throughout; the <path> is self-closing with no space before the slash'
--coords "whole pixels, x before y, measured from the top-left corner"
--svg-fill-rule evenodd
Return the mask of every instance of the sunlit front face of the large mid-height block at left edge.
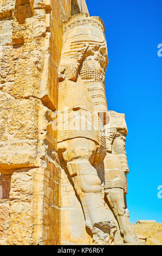
<path id="1" fill-rule="evenodd" d="M 1 172 L 37 163 L 38 100 L 1 93 Z M 24 115 L 25 113 L 25 115 Z"/>

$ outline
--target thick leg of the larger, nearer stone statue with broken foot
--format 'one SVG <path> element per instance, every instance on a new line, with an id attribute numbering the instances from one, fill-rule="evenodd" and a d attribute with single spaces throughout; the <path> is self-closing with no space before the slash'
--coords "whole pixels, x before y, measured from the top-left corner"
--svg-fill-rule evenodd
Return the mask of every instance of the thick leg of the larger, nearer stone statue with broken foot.
<path id="1" fill-rule="evenodd" d="M 74 189 L 80 198 L 86 226 L 96 244 L 109 241 L 110 229 L 115 227 L 105 209 L 101 194 L 101 181 L 90 163 L 97 145 L 86 138 L 74 138 L 59 143 Z"/>

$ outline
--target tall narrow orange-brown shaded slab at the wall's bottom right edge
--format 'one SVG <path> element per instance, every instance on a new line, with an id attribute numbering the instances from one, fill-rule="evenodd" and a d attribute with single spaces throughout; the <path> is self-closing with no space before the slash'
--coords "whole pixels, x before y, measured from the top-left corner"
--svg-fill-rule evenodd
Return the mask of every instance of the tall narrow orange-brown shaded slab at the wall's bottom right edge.
<path id="1" fill-rule="evenodd" d="M 61 169 L 59 169 L 57 162 L 48 163 L 44 173 L 43 245 L 61 244 Z"/>

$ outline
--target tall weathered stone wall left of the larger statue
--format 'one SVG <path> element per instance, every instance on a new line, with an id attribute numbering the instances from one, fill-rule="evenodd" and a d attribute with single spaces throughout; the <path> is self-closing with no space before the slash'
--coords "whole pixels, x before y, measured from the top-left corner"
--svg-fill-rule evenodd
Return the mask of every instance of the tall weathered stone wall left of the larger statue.
<path id="1" fill-rule="evenodd" d="M 2 0 L 0 243 L 61 243 L 54 127 L 62 20 L 70 0 Z"/>

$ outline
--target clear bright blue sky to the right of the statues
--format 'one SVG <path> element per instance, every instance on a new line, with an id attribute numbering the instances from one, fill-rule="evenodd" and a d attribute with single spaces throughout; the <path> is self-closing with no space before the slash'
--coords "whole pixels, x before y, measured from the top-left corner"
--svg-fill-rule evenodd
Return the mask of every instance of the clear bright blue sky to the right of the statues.
<path id="1" fill-rule="evenodd" d="M 131 222 L 162 223 L 161 0 L 86 0 L 90 16 L 105 23 L 109 64 L 109 110 L 125 113 L 129 163 L 127 196 Z M 162 194 L 162 193 L 161 193 Z"/>

